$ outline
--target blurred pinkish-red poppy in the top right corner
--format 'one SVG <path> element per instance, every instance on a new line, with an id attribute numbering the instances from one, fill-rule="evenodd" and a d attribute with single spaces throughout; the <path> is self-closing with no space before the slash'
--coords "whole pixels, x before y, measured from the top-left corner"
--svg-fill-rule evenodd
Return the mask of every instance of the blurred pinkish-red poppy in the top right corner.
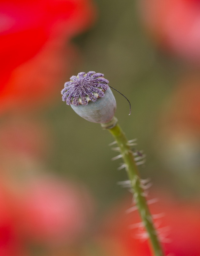
<path id="1" fill-rule="evenodd" d="M 200 62 L 199 0 L 143 0 L 141 11 L 148 33 L 160 46 Z"/>

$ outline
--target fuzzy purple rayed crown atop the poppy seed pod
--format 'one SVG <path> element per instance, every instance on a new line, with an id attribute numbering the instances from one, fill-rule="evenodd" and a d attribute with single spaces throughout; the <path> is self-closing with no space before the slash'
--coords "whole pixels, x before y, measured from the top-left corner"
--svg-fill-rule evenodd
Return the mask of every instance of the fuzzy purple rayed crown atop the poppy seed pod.
<path id="1" fill-rule="evenodd" d="M 61 94 L 62 100 L 67 102 L 67 105 L 79 104 L 87 105 L 88 102 L 96 101 L 99 97 L 104 97 L 109 81 L 104 78 L 104 74 L 89 71 L 78 73 L 77 76 L 70 77 L 70 81 L 65 83 Z M 97 93 L 98 96 L 94 95 Z"/>

